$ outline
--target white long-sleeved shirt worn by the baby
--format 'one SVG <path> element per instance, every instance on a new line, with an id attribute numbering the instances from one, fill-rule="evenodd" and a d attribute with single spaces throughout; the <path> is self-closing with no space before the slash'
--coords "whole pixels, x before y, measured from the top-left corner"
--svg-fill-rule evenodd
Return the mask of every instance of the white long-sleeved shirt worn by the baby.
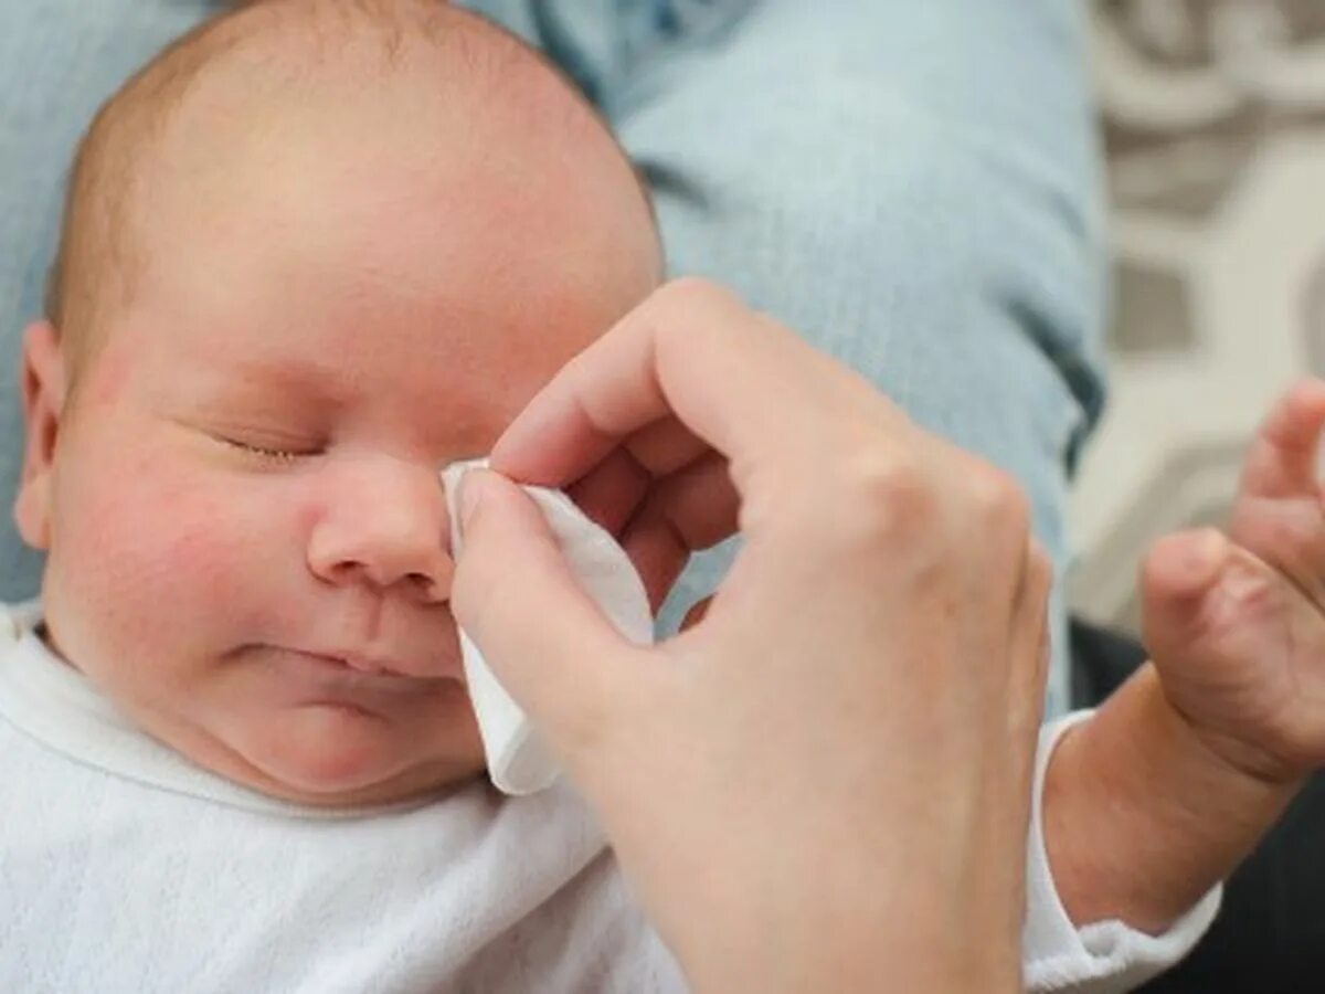
<path id="1" fill-rule="evenodd" d="M 682 991 L 566 786 L 329 814 L 201 770 L 138 732 L 0 614 L 0 990 Z M 1063 722 L 1041 738 L 1043 761 Z M 1077 930 L 1030 840 L 1036 990 L 1126 990 L 1186 953 L 1218 891 L 1161 937 Z M 696 914 L 704 914 L 696 908 Z"/>

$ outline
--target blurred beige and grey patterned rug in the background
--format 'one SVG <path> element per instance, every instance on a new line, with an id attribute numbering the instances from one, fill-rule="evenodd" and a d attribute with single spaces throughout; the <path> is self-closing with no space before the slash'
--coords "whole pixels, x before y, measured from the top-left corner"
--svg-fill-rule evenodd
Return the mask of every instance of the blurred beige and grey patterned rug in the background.
<path id="1" fill-rule="evenodd" d="M 1136 631 L 1150 541 L 1222 522 L 1268 404 L 1325 375 L 1325 0 L 1092 3 L 1117 301 L 1072 599 Z"/>

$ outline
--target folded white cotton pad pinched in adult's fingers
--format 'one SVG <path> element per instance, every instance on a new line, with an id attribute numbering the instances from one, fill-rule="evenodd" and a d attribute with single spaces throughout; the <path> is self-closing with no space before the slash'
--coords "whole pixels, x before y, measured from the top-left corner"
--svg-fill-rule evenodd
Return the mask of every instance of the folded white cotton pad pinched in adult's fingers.
<path id="1" fill-rule="evenodd" d="M 450 517 L 450 549 L 458 555 L 464 546 L 456 497 L 460 478 L 469 469 L 486 465 L 486 460 L 453 463 L 441 472 Z M 621 635 L 640 645 L 653 641 L 653 615 L 644 583 L 616 539 L 590 521 L 560 490 L 526 486 L 547 520 L 572 575 L 583 591 Z M 519 575 L 513 563 L 511 577 Z M 478 647 L 464 630 L 460 653 L 465 668 L 469 698 L 478 720 L 478 733 L 488 758 L 488 775 L 505 794 L 533 794 L 550 787 L 560 773 L 553 754 L 519 705 L 488 668 Z"/>

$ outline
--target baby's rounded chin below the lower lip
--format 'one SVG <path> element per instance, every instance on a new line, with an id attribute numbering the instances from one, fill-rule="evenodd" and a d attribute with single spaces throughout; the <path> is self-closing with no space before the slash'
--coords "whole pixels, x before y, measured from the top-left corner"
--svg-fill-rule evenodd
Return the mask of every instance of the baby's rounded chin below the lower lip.
<path id="1" fill-rule="evenodd" d="M 394 726 L 343 705 L 292 708 L 231 742 L 242 769 L 220 770 L 265 794 L 314 807 L 390 804 L 440 794 L 484 771 L 468 702 L 427 729 Z"/>

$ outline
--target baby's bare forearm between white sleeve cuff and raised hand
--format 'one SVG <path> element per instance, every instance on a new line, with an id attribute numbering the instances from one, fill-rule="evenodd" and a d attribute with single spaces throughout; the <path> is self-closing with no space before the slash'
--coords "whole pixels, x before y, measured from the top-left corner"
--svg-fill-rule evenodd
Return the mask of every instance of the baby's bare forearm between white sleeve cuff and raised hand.
<path id="1" fill-rule="evenodd" d="M 1212 749 L 1142 668 L 1049 763 L 1044 836 L 1068 916 L 1163 932 L 1256 846 L 1295 789 Z"/>

